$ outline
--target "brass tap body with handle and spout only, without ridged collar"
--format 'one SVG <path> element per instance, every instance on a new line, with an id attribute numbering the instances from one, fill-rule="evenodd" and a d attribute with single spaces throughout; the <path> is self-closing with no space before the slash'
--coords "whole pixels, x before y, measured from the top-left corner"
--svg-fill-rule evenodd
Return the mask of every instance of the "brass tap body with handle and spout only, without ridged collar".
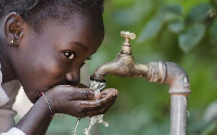
<path id="1" fill-rule="evenodd" d="M 122 50 L 114 61 L 100 65 L 90 76 L 90 79 L 105 82 L 105 75 L 112 74 L 120 77 L 145 77 L 148 66 L 145 64 L 136 63 L 130 47 L 130 39 L 135 39 L 136 35 L 130 32 L 120 32 L 120 36 L 125 37 Z"/>

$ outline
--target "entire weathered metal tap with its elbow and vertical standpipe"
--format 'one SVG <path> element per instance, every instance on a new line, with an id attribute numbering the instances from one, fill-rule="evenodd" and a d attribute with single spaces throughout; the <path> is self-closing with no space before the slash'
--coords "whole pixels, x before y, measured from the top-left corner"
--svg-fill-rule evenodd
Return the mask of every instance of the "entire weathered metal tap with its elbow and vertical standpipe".
<path id="1" fill-rule="evenodd" d="M 90 79 L 105 82 L 105 75 L 111 74 L 120 77 L 144 77 L 149 82 L 169 84 L 168 93 L 171 95 L 170 135 L 186 135 L 187 96 L 191 93 L 187 73 L 173 62 L 136 63 L 129 44 L 130 34 L 132 35 L 129 32 L 120 33 L 120 36 L 127 38 L 120 53 L 114 61 L 100 65 Z"/>

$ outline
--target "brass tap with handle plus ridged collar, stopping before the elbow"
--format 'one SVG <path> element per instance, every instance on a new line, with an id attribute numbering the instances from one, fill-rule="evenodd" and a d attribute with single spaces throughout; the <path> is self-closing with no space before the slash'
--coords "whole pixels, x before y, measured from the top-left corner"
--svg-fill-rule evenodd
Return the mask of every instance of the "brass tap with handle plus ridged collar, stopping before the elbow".
<path id="1" fill-rule="evenodd" d="M 106 62 L 98 66 L 95 72 L 90 76 L 91 81 L 105 82 L 107 74 L 119 77 L 144 77 L 150 82 L 164 83 L 166 78 L 166 63 L 151 62 L 140 64 L 135 62 L 130 39 L 135 39 L 136 35 L 130 32 L 120 32 L 120 37 L 125 38 L 120 52 L 114 61 Z"/>

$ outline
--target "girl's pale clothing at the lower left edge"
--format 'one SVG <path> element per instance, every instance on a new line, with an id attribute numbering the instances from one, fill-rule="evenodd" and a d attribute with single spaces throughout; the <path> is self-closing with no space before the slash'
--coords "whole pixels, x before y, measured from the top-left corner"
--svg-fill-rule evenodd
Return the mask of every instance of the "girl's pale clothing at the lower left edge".
<path id="1" fill-rule="evenodd" d="M 15 102 L 20 87 L 18 81 L 2 84 L 2 73 L 0 70 L 0 135 L 25 135 L 18 128 L 13 127 L 15 125 L 14 116 L 16 111 L 12 109 L 12 106 Z"/>

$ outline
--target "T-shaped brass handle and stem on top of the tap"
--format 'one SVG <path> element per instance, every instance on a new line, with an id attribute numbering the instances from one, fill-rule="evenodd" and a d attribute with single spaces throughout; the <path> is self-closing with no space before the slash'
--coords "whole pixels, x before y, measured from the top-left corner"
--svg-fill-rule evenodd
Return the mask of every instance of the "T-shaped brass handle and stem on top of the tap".
<path id="1" fill-rule="evenodd" d="M 120 54 L 131 56 L 131 48 L 129 40 L 136 38 L 136 34 L 130 32 L 120 32 L 120 37 L 125 37 L 125 42 L 123 42 Z"/>

